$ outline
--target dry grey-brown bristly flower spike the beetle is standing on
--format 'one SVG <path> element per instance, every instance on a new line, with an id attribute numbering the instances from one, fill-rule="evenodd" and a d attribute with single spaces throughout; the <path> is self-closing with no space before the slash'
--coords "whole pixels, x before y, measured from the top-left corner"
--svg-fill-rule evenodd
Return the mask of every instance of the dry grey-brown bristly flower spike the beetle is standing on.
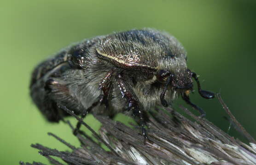
<path id="1" fill-rule="evenodd" d="M 140 130 L 94 115 L 103 126 L 99 134 L 96 135 L 94 132 L 93 135 L 99 139 L 99 142 L 105 143 L 110 151 L 103 149 L 100 143 L 81 131 L 76 135 L 81 142 L 81 148 L 76 148 L 49 133 L 50 136 L 66 144 L 70 152 L 47 148 L 41 144 L 33 144 L 32 147 L 38 148 L 40 154 L 49 159 L 53 165 L 63 165 L 54 157 L 63 159 L 68 165 L 256 165 L 255 140 L 234 118 L 219 94 L 217 97 L 239 132 L 247 137 L 250 145 L 234 139 L 211 122 L 193 115 L 181 106 L 181 109 L 196 122 L 190 121 L 170 108 L 166 108 L 166 111 L 157 109 L 157 113 L 150 112 L 147 125 L 151 142 L 146 145 L 143 143 L 144 137 Z M 70 110 L 66 109 L 66 111 L 81 121 L 82 125 L 87 126 Z M 69 122 L 67 123 L 70 125 Z M 71 126 L 71 129 L 73 131 L 74 127 Z M 42 164 L 20 162 L 20 165 Z"/>

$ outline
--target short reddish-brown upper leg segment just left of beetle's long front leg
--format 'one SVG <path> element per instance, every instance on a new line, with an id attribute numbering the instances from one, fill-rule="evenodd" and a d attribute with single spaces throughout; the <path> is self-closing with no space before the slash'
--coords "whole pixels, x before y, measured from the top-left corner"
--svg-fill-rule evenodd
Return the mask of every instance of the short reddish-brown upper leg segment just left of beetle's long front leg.
<path id="1" fill-rule="evenodd" d="M 99 83 L 99 89 L 101 90 L 99 95 L 99 103 L 105 104 L 105 109 L 108 108 L 108 99 L 110 95 L 111 89 L 111 77 L 112 77 L 113 70 L 109 71 L 107 75 L 102 79 Z"/>

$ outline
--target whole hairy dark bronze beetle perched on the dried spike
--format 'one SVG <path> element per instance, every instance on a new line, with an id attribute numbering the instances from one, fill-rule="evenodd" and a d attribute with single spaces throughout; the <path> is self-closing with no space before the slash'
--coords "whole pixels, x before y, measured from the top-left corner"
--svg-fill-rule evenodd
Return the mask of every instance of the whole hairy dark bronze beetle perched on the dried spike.
<path id="1" fill-rule="evenodd" d="M 192 78 L 203 98 L 214 98 L 214 93 L 201 90 L 175 37 L 153 29 L 130 30 L 86 39 L 43 61 L 33 72 L 30 94 L 53 122 L 67 115 L 57 103 L 82 117 L 92 109 L 114 115 L 128 107 L 139 116 L 147 139 L 143 110 L 156 104 L 166 107 L 178 94 L 205 115 L 189 99 Z"/>

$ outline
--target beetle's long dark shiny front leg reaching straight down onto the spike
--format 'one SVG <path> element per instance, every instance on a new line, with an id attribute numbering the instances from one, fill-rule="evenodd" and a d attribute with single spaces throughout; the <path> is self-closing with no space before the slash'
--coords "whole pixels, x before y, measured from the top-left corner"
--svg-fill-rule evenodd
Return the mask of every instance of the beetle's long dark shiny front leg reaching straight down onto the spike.
<path id="1" fill-rule="evenodd" d="M 128 110 L 132 110 L 135 115 L 140 117 L 140 126 L 142 135 L 144 136 L 144 143 L 148 140 L 147 132 L 145 129 L 145 121 L 143 116 L 143 111 L 140 108 L 140 102 L 134 91 L 131 89 L 130 85 L 125 82 L 120 74 L 117 75 L 117 85 L 122 93 L 122 97 L 128 101 Z"/>

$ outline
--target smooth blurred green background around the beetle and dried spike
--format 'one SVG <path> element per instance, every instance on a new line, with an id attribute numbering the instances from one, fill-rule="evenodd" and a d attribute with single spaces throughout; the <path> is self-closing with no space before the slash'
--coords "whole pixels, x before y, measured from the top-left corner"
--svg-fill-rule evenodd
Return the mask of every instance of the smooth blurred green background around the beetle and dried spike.
<path id="1" fill-rule="evenodd" d="M 41 60 L 84 38 L 144 27 L 178 38 L 203 88 L 220 92 L 256 137 L 255 0 L 1 0 L 0 164 L 15 165 L 20 160 L 48 164 L 31 143 L 67 148 L 47 132 L 78 145 L 68 126 L 48 123 L 29 97 L 30 75 Z M 206 100 L 196 92 L 192 101 L 228 132 L 229 122 L 217 99 Z M 175 107 L 179 104 L 192 110 L 180 99 Z M 116 120 L 132 119 L 119 115 Z M 92 116 L 85 121 L 99 128 Z M 246 142 L 233 127 L 229 134 Z"/>

